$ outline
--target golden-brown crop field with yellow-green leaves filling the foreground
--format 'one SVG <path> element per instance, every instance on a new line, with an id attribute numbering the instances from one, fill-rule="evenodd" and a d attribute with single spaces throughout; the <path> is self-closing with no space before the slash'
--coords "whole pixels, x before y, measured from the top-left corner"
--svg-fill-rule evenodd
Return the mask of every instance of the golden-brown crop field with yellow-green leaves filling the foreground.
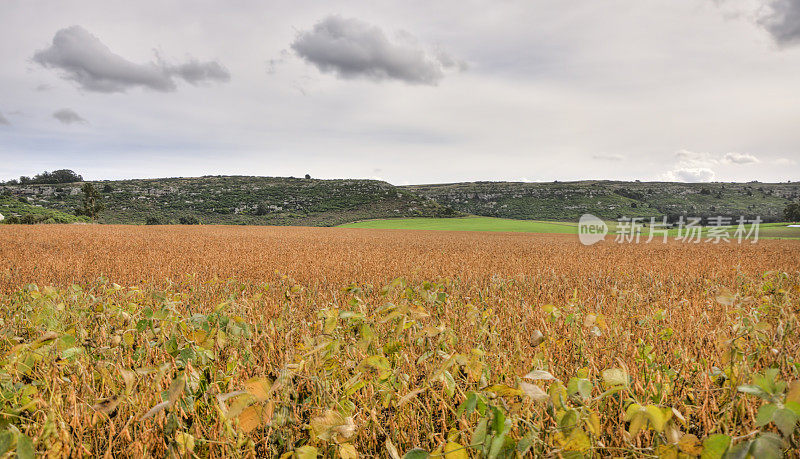
<path id="1" fill-rule="evenodd" d="M 20 457 L 800 447 L 796 241 L 7 225 L 0 301 Z"/>

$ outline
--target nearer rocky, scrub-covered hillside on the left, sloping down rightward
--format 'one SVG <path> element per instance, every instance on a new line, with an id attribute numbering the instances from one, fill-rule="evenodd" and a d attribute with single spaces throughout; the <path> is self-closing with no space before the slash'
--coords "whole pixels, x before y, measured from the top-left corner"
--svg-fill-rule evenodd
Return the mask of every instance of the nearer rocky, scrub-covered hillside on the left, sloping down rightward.
<path id="1" fill-rule="evenodd" d="M 390 217 L 447 217 L 447 207 L 377 180 L 205 176 L 93 182 L 106 206 L 101 223 L 333 226 Z M 74 213 L 82 183 L 5 185 L 1 195 Z"/>

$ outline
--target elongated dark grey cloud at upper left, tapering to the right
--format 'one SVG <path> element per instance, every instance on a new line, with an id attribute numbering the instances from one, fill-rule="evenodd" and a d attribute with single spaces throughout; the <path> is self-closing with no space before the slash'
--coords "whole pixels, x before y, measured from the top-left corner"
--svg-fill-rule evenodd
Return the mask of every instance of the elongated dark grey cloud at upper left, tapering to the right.
<path id="1" fill-rule="evenodd" d="M 37 51 L 33 60 L 46 68 L 61 70 L 63 78 L 95 92 L 125 92 L 137 86 L 174 91 L 176 77 L 190 84 L 230 79 L 225 67 L 215 61 L 191 60 L 178 65 L 162 59 L 144 64 L 131 62 L 114 54 L 96 36 L 77 25 L 56 32 L 53 44 Z"/>

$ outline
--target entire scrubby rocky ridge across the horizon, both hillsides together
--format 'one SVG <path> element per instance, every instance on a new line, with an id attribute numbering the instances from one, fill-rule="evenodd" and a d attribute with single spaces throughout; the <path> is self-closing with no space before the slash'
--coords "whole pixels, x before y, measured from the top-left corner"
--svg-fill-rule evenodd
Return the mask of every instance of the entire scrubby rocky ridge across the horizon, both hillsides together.
<path id="1" fill-rule="evenodd" d="M 0 184 L 0 196 L 99 223 L 335 226 L 414 217 L 476 215 L 571 221 L 620 217 L 799 221 L 800 182 L 470 182 L 396 187 L 377 180 L 205 176 L 95 181 L 90 195 L 70 170 Z M 87 199 L 89 201 L 87 201 Z M 87 207 L 88 205 L 88 207 Z M 89 212 L 89 213 L 87 213 Z M 21 218 L 23 214 L 12 213 Z M 13 221 L 13 220 L 12 220 Z M 513 226 L 513 225 L 512 225 Z"/>

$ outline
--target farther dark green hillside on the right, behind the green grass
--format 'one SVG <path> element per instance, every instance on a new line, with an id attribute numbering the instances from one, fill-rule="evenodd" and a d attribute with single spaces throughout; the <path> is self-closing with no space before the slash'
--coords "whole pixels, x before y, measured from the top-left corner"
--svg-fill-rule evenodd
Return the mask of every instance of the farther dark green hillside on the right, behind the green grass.
<path id="1" fill-rule="evenodd" d="M 800 182 L 466 182 L 401 188 L 467 214 L 562 221 L 584 213 L 611 220 L 759 215 L 779 221 L 790 200 L 800 197 Z"/>

